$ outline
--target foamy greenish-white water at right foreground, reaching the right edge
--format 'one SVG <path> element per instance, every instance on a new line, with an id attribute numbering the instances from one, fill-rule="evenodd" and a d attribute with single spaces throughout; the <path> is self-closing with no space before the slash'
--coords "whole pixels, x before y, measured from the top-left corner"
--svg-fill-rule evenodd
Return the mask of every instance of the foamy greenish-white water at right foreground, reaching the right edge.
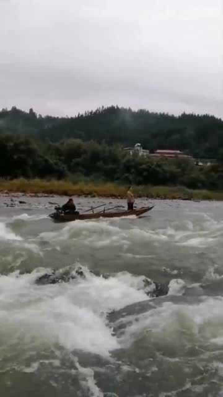
<path id="1" fill-rule="evenodd" d="M 199 304 L 176 304 L 165 302 L 148 312 L 137 316 L 137 322 L 125 329 L 119 343 L 129 345 L 148 331 L 154 338 L 165 343 L 188 346 L 194 343 L 216 343 L 223 347 L 223 298 L 206 298 Z M 130 318 L 127 319 L 129 322 Z M 124 320 L 126 321 L 126 320 Z M 150 335 L 150 336 L 149 336 Z M 151 338 L 151 334 L 148 334 Z"/>

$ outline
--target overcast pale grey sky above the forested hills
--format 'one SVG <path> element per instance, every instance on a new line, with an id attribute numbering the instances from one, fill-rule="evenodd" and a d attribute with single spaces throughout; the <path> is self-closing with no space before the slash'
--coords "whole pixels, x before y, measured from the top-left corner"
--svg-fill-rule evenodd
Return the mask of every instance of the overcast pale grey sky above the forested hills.
<path id="1" fill-rule="evenodd" d="M 223 0 L 0 0 L 0 108 L 223 118 Z"/>

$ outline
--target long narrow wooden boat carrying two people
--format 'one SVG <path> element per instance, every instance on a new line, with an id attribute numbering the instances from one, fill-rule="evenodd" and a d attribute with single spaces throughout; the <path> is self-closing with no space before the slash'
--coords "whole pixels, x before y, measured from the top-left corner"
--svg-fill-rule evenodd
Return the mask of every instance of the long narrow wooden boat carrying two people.
<path id="1" fill-rule="evenodd" d="M 152 210 L 154 206 L 149 207 L 141 207 L 136 208 L 135 210 L 130 211 L 117 211 L 117 212 L 108 212 L 106 210 L 100 212 L 92 212 L 92 214 L 79 214 L 78 212 L 75 214 L 64 213 L 60 210 L 56 210 L 49 217 L 54 220 L 54 222 L 71 222 L 75 220 L 91 220 L 91 219 L 99 219 L 99 218 L 122 218 L 129 215 L 140 216 L 145 212 Z"/>

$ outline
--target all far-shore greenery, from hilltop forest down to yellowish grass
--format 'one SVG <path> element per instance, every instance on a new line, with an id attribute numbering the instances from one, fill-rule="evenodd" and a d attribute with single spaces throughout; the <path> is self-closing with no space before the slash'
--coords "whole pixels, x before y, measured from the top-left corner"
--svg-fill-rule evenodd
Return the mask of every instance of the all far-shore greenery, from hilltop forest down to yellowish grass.
<path id="1" fill-rule="evenodd" d="M 198 167 L 191 160 L 131 156 L 123 150 L 123 145 L 138 141 L 150 150 L 181 149 L 217 162 Z M 61 189 L 61 194 L 77 189 L 71 194 L 123 196 L 120 189 L 130 184 L 149 197 L 169 197 L 169 192 L 185 197 L 191 195 L 187 189 L 223 191 L 223 121 L 208 115 L 174 117 L 112 106 L 75 118 L 54 118 L 13 107 L 0 112 L 0 153 L 0 178 L 10 180 L 9 184 L 21 177 L 61 181 L 51 181 L 48 187 L 44 182 L 40 188 L 40 181 L 32 185 L 19 179 L 17 191 L 23 190 L 24 183 L 38 191 Z M 105 193 L 98 193 L 98 186 L 100 192 L 104 186 Z M 174 193 L 177 186 L 184 188 Z"/>

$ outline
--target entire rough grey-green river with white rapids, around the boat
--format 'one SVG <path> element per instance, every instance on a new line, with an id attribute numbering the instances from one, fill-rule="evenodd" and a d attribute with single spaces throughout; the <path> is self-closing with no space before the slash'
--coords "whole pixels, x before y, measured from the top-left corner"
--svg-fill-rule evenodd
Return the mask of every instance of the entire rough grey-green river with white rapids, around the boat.
<path id="1" fill-rule="evenodd" d="M 65 198 L 12 200 L 0 197 L 1 396 L 223 396 L 222 202 L 54 224 Z"/>

